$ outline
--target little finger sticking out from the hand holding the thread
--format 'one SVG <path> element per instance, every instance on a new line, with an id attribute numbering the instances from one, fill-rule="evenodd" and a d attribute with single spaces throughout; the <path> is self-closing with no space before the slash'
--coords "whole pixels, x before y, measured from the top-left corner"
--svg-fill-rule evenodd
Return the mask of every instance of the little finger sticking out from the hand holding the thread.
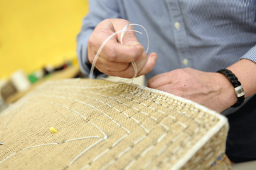
<path id="1" fill-rule="evenodd" d="M 147 57 L 146 64 L 144 64 L 144 67 L 142 67 L 140 72 L 138 72 L 138 77 L 150 72 L 154 68 L 154 65 L 156 64 L 156 60 L 157 60 L 156 53 L 151 52 Z"/>

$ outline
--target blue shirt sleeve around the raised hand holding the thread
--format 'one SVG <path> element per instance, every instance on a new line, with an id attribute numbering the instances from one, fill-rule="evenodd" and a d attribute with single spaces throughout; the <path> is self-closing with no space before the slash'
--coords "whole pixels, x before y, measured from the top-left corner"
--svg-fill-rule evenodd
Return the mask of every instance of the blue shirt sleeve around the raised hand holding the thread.
<path id="1" fill-rule="evenodd" d="M 77 55 L 82 74 L 90 74 L 90 62 L 87 57 L 87 44 L 98 23 L 107 18 L 120 18 L 117 0 L 91 0 L 89 13 L 82 20 L 82 29 L 77 37 Z M 94 72 L 94 78 L 105 77 L 101 72 Z"/>

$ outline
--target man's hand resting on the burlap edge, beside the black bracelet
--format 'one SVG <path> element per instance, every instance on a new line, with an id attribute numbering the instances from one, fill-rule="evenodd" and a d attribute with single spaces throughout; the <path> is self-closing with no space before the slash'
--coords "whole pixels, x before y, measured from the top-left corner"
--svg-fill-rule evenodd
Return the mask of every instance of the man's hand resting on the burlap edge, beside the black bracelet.
<path id="1" fill-rule="evenodd" d="M 176 69 L 151 78 L 148 86 L 187 98 L 219 113 L 238 101 L 234 86 L 220 73 Z"/>

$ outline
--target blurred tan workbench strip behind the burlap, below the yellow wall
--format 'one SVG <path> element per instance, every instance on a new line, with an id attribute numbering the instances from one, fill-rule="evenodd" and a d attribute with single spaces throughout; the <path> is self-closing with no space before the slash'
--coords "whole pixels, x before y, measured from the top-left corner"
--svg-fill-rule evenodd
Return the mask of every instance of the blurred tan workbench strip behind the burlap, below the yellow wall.
<path id="1" fill-rule="evenodd" d="M 36 81 L 35 84 L 32 84 L 31 88 L 28 91 L 17 92 L 16 94 L 9 96 L 8 98 L 6 98 L 6 103 L 14 103 L 14 101 L 17 101 L 19 98 L 27 94 L 29 91 L 36 89 L 37 86 L 40 86 L 45 81 L 55 79 L 70 79 L 76 77 L 78 74 L 80 74 L 80 69 L 78 66 L 68 67 L 67 69 L 63 69 L 58 72 L 53 72 L 48 77 L 44 77 L 43 79 Z"/>

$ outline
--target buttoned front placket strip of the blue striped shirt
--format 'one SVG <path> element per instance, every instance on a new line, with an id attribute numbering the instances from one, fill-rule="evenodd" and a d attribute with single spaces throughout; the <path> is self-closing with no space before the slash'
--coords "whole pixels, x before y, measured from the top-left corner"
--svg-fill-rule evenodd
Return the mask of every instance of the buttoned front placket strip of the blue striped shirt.
<path id="1" fill-rule="evenodd" d="M 193 67 L 191 55 L 188 48 L 185 24 L 181 14 L 178 0 L 166 0 L 166 5 L 171 16 L 172 28 L 174 30 L 174 42 L 181 68 Z"/>

